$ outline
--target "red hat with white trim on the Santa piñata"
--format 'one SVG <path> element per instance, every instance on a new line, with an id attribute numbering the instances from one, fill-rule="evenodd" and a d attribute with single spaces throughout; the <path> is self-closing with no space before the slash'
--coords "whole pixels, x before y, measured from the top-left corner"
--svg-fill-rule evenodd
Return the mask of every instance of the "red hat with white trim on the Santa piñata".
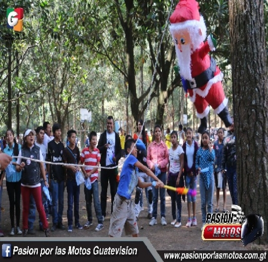
<path id="1" fill-rule="evenodd" d="M 206 27 L 199 8 L 199 3 L 196 0 L 180 0 L 169 18 L 171 34 L 178 30 L 197 27 L 201 29 L 202 35 L 205 38 Z"/>

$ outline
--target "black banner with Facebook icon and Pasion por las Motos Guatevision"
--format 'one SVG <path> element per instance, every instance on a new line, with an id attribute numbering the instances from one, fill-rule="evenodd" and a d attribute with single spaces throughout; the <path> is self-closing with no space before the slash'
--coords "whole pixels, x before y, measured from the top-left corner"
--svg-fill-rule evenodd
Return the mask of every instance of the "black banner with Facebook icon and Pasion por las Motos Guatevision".
<path id="1" fill-rule="evenodd" d="M 3 261 L 156 262 L 150 242 L 133 238 L 0 238 Z M 148 248 L 149 246 L 149 248 Z M 149 250 L 150 249 L 150 250 Z M 153 254 L 154 253 L 154 254 Z M 156 258 L 158 259 L 156 259 Z"/>

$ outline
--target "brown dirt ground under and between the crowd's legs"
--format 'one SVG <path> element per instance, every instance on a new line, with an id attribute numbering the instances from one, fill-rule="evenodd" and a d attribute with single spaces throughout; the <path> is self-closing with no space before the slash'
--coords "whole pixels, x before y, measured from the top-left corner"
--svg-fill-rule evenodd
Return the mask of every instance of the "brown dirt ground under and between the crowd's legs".
<path id="1" fill-rule="evenodd" d="M 99 180 L 100 181 L 100 180 Z M 80 188 L 80 205 L 79 205 L 79 215 L 80 215 L 80 223 L 84 225 L 87 221 L 86 210 L 85 210 L 85 199 L 84 199 L 84 185 L 81 185 Z M 99 183 L 99 193 L 100 193 L 100 183 Z M 107 211 L 108 214 L 104 221 L 104 229 L 95 232 L 94 229 L 97 225 L 97 219 L 94 216 L 94 208 L 93 208 L 93 225 L 89 229 L 73 229 L 71 233 L 66 230 L 56 230 L 55 232 L 51 232 L 51 237 L 108 237 L 109 225 L 110 225 L 110 210 L 111 210 L 111 196 L 108 191 L 108 199 L 107 199 Z M 143 193 L 144 194 L 144 193 Z M 144 194 L 145 195 L 145 194 Z M 134 193 L 133 193 L 134 198 Z M 143 199 L 145 197 L 143 196 Z M 144 201 L 143 201 L 144 202 Z M 214 207 L 216 203 L 216 194 L 214 193 Z M 3 192 L 2 192 L 2 207 L 5 209 L 1 212 L 1 228 L 4 232 L 4 236 L 9 237 L 10 232 L 10 220 L 9 220 L 9 201 L 5 187 L 5 180 L 3 181 Z M 227 189 L 227 210 L 231 209 L 231 197 L 230 193 Z M 175 228 L 170 224 L 172 221 L 171 216 L 171 200 L 168 194 L 166 193 L 166 220 L 167 225 L 162 226 L 160 217 L 157 217 L 157 225 L 149 226 L 149 219 L 147 219 L 147 205 L 146 199 L 144 204 L 144 210 L 140 212 L 138 227 L 139 227 L 139 236 L 147 237 L 153 247 L 156 250 L 256 250 L 256 249 L 265 249 L 267 247 L 260 247 L 254 244 L 249 244 L 246 248 L 243 247 L 241 241 L 203 241 L 201 239 L 201 201 L 200 201 L 200 193 L 199 193 L 199 185 L 198 185 L 198 195 L 197 195 L 197 221 L 198 226 L 187 228 L 185 225 L 187 223 L 188 215 L 187 215 L 187 202 L 182 202 L 182 226 L 180 228 Z M 222 192 L 220 195 L 220 210 L 222 210 Z M 37 216 L 38 216 L 38 212 Z M 158 214 L 160 214 L 160 200 L 158 201 Z M 22 216 L 22 209 L 21 209 Z M 64 207 L 64 215 L 63 215 L 63 223 L 67 228 L 67 191 L 65 190 L 65 207 Z M 49 217 L 49 225 L 52 226 L 52 217 Z M 22 219 L 20 222 L 20 226 L 22 227 Z M 141 229 L 143 227 L 143 229 Z M 39 231 L 38 226 L 38 217 L 35 222 L 35 230 L 36 234 L 32 237 L 43 237 L 44 232 Z M 21 237 L 21 235 L 14 235 L 15 237 Z M 122 237 L 126 237 L 123 233 Z M 129 236 L 128 236 L 129 237 Z"/>

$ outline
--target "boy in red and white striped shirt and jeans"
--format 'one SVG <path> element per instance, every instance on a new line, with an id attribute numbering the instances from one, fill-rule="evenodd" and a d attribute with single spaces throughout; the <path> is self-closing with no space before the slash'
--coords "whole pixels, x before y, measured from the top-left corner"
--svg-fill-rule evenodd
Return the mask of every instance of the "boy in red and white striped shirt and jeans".
<path id="1" fill-rule="evenodd" d="M 98 219 L 98 225 L 95 228 L 95 231 L 100 231 L 103 229 L 103 217 L 101 214 L 101 205 L 99 200 L 99 186 L 98 186 L 98 167 L 100 165 L 100 151 L 96 148 L 97 145 L 97 133 L 91 131 L 89 134 L 89 146 L 85 147 L 80 155 L 80 162 L 84 164 L 84 167 L 81 167 L 85 179 L 90 180 L 91 189 L 87 189 L 86 185 L 84 186 L 85 201 L 86 201 L 86 211 L 87 211 L 87 222 L 84 225 L 84 229 L 89 228 L 92 225 L 92 195 L 94 209 L 96 217 Z M 96 166 L 96 167 L 90 167 Z"/>

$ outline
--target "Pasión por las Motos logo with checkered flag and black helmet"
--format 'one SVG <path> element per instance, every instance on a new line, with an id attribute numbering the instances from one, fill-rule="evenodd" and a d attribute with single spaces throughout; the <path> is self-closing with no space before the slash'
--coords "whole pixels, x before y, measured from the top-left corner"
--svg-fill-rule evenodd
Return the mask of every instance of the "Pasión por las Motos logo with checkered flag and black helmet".
<path id="1" fill-rule="evenodd" d="M 261 215 L 245 216 L 239 205 L 232 205 L 231 213 L 207 213 L 205 223 L 203 240 L 241 240 L 244 247 L 261 237 L 264 229 Z"/>

